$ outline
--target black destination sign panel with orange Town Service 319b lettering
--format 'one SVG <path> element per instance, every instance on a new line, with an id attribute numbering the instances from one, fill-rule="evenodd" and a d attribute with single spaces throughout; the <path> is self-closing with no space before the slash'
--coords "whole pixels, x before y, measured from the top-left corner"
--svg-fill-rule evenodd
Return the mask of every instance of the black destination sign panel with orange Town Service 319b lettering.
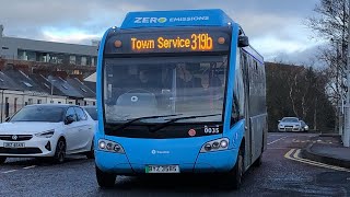
<path id="1" fill-rule="evenodd" d="M 116 31 L 107 38 L 105 54 L 228 51 L 231 36 L 224 30 Z"/>

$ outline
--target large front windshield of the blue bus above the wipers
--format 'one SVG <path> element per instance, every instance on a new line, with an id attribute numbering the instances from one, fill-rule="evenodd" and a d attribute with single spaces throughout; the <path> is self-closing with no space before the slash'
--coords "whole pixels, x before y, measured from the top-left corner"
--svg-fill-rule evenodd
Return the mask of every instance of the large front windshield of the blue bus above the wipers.
<path id="1" fill-rule="evenodd" d="M 202 116 L 179 123 L 222 121 L 228 56 L 106 58 L 106 123 L 148 116 Z M 205 116 L 218 114 L 218 116 Z M 164 123 L 167 118 L 147 118 Z"/>

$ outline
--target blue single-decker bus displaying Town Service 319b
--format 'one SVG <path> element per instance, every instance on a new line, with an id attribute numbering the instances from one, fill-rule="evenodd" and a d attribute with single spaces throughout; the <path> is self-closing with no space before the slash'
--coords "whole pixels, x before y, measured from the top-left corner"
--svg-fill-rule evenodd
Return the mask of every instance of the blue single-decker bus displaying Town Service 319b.
<path id="1" fill-rule="evenodd" d="M 238 188 L 266 150 L 262 57 L 222 10 L 130 12 L 98 48 L 96 178 L 219 174 Z"/>

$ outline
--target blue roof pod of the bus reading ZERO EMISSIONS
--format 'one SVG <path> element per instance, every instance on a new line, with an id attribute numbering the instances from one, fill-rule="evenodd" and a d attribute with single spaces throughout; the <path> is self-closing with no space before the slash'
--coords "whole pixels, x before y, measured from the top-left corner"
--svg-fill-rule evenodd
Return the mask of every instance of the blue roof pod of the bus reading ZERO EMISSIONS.
<path id="1" fill-rule="evenodd" d="M 220 9 L 129 12 L 120 28 L 226 26 L 233 20 Z"/>

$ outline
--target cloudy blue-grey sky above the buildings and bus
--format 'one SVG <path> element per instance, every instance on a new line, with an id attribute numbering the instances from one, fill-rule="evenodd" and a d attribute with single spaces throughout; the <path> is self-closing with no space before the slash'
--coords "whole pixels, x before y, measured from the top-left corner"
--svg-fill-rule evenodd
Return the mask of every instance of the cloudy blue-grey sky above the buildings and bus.
<path id="1" fill-rule="evenodd" d="M 131 11 L 222 9 L 267 61 L 308 63 L 317 47 L 304 25 L 319 0 L 0 0 L 4 35 L 91 44 Z"/>

